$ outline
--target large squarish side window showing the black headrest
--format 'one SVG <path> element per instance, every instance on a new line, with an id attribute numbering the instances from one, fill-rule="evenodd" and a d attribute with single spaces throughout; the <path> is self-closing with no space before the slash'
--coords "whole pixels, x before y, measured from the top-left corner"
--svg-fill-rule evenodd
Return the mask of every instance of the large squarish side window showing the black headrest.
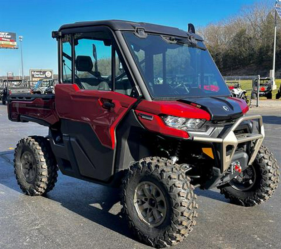
<path id="1" fill-rule="evenodd" d="M 77 33 L 75 83 L 88 90 L 111 90 L 111 39 L 106 32 Z"/>

